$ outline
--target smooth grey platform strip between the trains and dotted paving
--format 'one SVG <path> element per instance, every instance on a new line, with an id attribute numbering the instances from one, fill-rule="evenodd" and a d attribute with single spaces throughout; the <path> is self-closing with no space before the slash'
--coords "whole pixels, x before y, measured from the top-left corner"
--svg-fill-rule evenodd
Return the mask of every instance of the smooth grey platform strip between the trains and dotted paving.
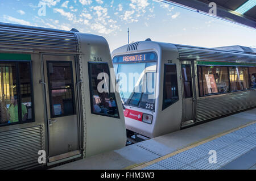
<path id="1" fill-rule="evenodd" d="M 163 159 L 174 159 L 171 158 L 172 155 L 186 151 L 189 148 L 195 148 L 197 145 L 205 144 L 209 141 L 215 140 L 218 137 L 225 136 L 226 134 L 237 131 L 238 129 L 245 127 L 245 125 L 249 126 L 248 124 L 253 123 L 256 123 L 256 108 L 210 121 L 208 123 L 200 124 L 195 127 L 166 134 L 164 136 L 156 137 L 151 140 L 139 142 L 119 150 L 113 150 L 108 153 L 95 155 L 93 157 L 81 159 L 72 163 L 67 163 L 52 169 L 143 169 L 158 161 L 162 161 Z M 238 132 L 238 135 L 240 134 L 243 133 Z M 229 137 L 232 137 L 230 135 Z M 241 137 L 243 136 L 245 135 L 241 135 Z M 229 140 L 229 137 L 226 139 Z M 222 142 L 225 144 L 225 140 L 222 140 Z M 214 144 L 210 144 L 209 146 L 212 145 Z M 197 153 L 194 153 L 194 157 L 197 156 L 195 154 Z M 206 156 L 206 152 L 204 154 Z M 251 154 L 254 154 L 254 152 Z M 203 165 L 203 163 L 200 163 L 200 161 L 198 162 L 199 163 L 197 163 L 197 166 Z M 221 165 L 219 164 L 216 167 L 212 167 L 212 169 L 220 169 L 220 166 Z M 166 167 L 159 168 L 166 169 Z M 204 167 L 193 167 L 193 165 L 183 167 L 183 169 L 186 168 L 204 169 Z M 250 169 L 254 169 L 254 167 L 251 166 Z"/>

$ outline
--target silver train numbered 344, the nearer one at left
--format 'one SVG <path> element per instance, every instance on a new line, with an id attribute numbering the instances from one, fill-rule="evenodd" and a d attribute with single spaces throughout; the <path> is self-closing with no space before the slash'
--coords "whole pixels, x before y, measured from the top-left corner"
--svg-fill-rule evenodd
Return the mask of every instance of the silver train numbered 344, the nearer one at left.
<path id="1" fill-rule="evenodd" d="M 104 37 L 0 23 L 0 169 L 125 146 L 119 94 L 97 90 L 98 73 L 110 68 Z"/>

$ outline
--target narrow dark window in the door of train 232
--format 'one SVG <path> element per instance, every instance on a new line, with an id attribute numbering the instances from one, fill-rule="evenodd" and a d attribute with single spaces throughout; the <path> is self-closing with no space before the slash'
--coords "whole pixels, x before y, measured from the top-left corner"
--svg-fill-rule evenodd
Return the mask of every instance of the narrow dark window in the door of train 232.
<path id="1" fill-rule="evenodd" d="M 192 98 L 192 77 L 191 77 L 191 65 L 181 65 L 181 73 L 183 77 L 183 87 L 185 98 Z"/>

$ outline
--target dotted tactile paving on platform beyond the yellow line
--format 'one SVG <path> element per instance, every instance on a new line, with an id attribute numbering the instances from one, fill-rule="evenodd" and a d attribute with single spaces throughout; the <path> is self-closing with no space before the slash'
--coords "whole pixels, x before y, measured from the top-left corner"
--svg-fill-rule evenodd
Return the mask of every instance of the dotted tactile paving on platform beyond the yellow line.
<path id="1" fill-rule="evenodd" d="M 255 148 L 256 122 L 138 169 L 246 170 L 256 164 Z"/>

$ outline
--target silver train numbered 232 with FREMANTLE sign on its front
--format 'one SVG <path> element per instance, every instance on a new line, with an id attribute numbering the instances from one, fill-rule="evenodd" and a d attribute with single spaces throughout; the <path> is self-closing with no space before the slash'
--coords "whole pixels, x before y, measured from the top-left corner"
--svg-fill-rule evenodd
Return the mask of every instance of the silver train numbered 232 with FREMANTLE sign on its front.
<path id="1" fill-rule="evenodd" d="M 126 128 L 143 136 L 256 106 L 256 53 L 148 40 L 117 48 L 112 58 Z M 139 76 L 123 83 L 129 73 Z"/>

